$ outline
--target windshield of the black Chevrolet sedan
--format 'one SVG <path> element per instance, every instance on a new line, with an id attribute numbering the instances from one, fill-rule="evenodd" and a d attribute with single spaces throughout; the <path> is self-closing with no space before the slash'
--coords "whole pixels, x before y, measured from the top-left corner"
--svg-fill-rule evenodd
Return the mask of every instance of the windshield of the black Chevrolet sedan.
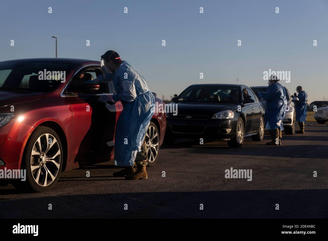
<path id="1" fill-rule="evenodd" d="M 238 87 L 190 86 L 176 99 L 177 102 L 239 103 Z"/>

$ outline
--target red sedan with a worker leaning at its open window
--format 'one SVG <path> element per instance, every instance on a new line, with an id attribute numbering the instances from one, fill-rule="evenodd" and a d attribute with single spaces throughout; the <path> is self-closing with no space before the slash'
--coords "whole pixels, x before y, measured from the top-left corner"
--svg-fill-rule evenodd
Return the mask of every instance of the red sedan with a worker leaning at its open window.
<path id="1" fill-rule="evenodd" d="M 26 181 L 12 181 L 15 187 L 49 190 L 61 171 L 113 158 L 123 106 L 112 98 L 113 83 L 92 82 L 100 74 L 100 62 L 92 60 L 0 62 L 0 171 L 26 170 Z M 165 113 L 154 113 L 146 134 L 149 166 L 157 160 L 165 127 Z M 7 183 L 15 179 L 8 176 Z"/>

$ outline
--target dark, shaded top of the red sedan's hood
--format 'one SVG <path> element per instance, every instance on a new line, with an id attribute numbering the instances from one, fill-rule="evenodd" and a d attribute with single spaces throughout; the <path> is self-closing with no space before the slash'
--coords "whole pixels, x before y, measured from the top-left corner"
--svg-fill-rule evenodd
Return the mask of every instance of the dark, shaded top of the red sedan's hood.
<path id="1" fill-rule="evenodd" d="M 0 90 L 0 107 L 42 99 L 45 93 Z"/>

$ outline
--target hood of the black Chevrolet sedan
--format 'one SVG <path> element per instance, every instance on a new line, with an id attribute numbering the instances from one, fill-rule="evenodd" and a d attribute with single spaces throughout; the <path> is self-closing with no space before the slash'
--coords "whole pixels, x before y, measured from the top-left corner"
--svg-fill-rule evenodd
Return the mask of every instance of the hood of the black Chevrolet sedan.
<path id="1" fill-rule="evenodd" d="M 176 104 L 178 115 L 207 115 L 213 116 L 222 110 L 236 110 L 237 104 L 231 103 L 204 103 L 204 102 L 178 102 Z"/>

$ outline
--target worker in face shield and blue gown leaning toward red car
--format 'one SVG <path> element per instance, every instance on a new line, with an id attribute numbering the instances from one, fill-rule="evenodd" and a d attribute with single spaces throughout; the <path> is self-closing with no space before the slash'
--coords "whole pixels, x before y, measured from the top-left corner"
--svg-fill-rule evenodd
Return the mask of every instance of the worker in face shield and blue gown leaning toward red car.
<path id="1" fill-rule="evenodd" d="M 106 63 L 105 75 L 98 76 L 94 83 L 113 81 L 116 90 L 113 100 L 120 100 L 123 105 L 116 123 L 114 161 L 125 168 L 113 175 L 129 180 L 147 179 L 145 136 L 154 113 L 154 95 L 143 76 L 127 61 L 122 61 L 117 52 L 108 50 L 101 59 Z"/>

